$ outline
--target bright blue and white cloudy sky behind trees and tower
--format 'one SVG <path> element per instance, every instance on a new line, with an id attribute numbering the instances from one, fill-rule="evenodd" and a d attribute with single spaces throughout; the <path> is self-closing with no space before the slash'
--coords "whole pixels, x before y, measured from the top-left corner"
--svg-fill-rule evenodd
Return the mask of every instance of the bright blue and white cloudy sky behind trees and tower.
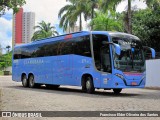
<path id="1" fill-rule="evenodd" d="M 26 0 L 26 4 L 23 6 L 24 12 L 35 12 L 35 22 L 38 24 L 42 20 L 50 22 L 54 25 L 60 34 L 63 34 L 63 30 L 59 26 L 58 12 L 59 10 L 68 4 L 66 0 Z M 139 0 L 134 0 L 132 6 L 137 5 L 138 8 L 145 8 L 146 4 Z M 121 2 L 116 11 L 122 12 L 126 9 L 127 0 Z M 86 29 L 86 23 L 83 21 L 83 28 Z M 12 10 L 7 11 L 5 15 L 0 17 L 0 44 L 2 48 L 7 45 L 12 46 Z M 3 53 L 5 53 L 3 49 Z"/>

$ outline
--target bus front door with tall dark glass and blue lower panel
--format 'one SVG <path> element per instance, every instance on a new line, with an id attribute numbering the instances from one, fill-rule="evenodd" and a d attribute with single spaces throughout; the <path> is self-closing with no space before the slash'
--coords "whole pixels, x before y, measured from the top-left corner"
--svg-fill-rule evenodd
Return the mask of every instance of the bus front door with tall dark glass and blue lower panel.
<path id="1" fill-rule="evenodd" d="M 106 88 L 108 81 L 111 79 L 111 60 L 107 35 L 93 34 L 93 52 L 94 61 L 97 71 L 100 73 L 100 87 Z"/>

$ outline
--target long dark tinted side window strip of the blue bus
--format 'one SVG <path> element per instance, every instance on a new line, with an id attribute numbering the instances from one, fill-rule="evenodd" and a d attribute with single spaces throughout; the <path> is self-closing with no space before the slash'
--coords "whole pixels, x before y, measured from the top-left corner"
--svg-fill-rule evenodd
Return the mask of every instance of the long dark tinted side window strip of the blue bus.
<path id="1" fill-rule="evenodd" d="M 89 36 L 15 48 L 14 59 L 76 54 L 91 57 Z"/>

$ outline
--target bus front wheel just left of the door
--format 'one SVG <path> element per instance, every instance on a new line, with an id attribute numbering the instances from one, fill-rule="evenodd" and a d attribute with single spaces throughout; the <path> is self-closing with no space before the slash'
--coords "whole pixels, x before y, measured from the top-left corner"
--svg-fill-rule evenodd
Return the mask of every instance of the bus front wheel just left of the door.
<path id="1" fill-rule="evenodd" d="M 86 92 L 92 94 L 95 91 L 93 80 L 91 77 L 86 77 Z"/>

